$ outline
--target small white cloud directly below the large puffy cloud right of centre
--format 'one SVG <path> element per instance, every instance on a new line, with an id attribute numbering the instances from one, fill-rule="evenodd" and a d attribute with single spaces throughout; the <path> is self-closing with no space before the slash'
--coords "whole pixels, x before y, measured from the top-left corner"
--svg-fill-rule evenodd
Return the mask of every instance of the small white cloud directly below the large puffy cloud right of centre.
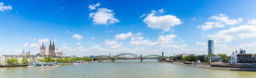
<path id="1" fill-rule="evenodd" d="M 173 35 L 173 34 L 170 34 L 170 35 L 160 35 L 159 38 L 157 39 L 157 41 L 159 43 L 173 43 L 173 38 L 177 37 L 177 35 Z"/>

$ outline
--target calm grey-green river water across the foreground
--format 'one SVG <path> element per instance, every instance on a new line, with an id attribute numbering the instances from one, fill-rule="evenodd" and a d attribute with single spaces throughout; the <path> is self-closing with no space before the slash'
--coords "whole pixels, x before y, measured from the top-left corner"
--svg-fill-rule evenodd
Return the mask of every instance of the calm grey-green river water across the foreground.
<path id="1" fill-rule="evenodd" d="M 155 60 L 119 60 L 48 68 L 0 67 L 0 78 L 256 78 L 256 72 L 203 69 Z"/>

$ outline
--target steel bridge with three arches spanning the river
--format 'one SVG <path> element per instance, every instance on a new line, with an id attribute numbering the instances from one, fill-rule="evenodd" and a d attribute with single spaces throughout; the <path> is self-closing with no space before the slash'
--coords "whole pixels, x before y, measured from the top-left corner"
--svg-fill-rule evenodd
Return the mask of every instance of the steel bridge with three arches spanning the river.
<path id="1" fill-rule="evenodd" d="M 111 60 L 111 62 L 114 62 L 114 60 L 128 60 L 128 59 L 141 59 L 141 62 L 143 62 L 143 59 L 161 59 L 165 60 L 163 56 L 159 55 L 147 55 L 147 56 L 139 56 L 137 54 L 132 54 L 132 53 L 122 53 L 122 54 L 117 54 L 115 56 L 106 56 L 106 55 L 100 55 L 100 56 L 94 56 L 93 60 Z"/>

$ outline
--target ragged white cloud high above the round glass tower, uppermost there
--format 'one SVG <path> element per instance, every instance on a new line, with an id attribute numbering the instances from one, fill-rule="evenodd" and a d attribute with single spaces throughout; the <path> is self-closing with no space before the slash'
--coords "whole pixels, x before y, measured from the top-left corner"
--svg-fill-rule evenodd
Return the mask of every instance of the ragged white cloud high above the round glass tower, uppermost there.
<path id="1" fill-rule="evenodd" d="M 217 22 L 205 22 L 204 25 L 198 25 L 197 28 L 202 28 L 202 30 L 208 30 L 211 28 L 224 28 L 225 25 L 234 25 L 239 24 L 243 21 L 243 18 L 239 17 L 238 19 L 229 19 L 227 15 L 219 14 L 220 16 L 211 16 L 208 19 L 216 20 Z"/>

